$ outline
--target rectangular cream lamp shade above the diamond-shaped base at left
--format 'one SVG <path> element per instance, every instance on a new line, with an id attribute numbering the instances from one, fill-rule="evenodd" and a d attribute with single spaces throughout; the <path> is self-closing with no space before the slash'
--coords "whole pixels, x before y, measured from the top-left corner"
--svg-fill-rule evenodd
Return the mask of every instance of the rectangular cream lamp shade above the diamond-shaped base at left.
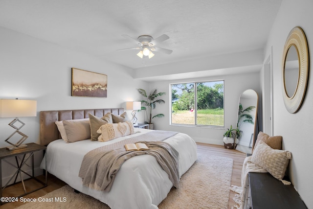
<path id="1" fill-rule="evenodd" d="M 37 101 L 0 99 L 0 117 L 37 116 Z"/>

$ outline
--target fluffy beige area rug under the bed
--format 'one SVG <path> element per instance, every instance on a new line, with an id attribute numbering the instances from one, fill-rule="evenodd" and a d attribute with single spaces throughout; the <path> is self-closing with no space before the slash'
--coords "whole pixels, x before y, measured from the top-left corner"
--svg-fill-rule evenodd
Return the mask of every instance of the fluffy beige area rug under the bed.
<path id="1" fill-rule="evenodd" d="M 159 209 L 227 209 L 233 159 L 198 154 L 198 160 L 182 175 Z M 66 197 L 66 202 L 27 203 L 18 209 L 109 209 L 104 203 L 63 186 L 43 198 Z"/>

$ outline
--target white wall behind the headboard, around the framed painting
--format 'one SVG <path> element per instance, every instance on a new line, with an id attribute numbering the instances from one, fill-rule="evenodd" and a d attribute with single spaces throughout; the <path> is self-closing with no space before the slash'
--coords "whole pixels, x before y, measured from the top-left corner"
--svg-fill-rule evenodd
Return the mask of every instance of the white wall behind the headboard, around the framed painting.
<path id="1" fill-rule="evenodd" d="M 108 97 L 71 96 L 71 68 L 107 74 Z M 148 88 L 148 83 L 134 80 L 130 68 L 0 27 L 0 98 L 37 100 L 37 116 L 20 118 L 26 123 L 21 129 L 29 136 L 26 143 L 40 141 L 40 111 L 126 108 L 126 101 L 141 99 L 138 88 Z M 8 125 L 12 119 L 0 118 L 0 147 L 9 145 L 4 139 L 15 131 Z M 138 119 L 143 121 L 141 114 Z M 2 171 L 4 177 L 12 173 L 6 163 Z"/>

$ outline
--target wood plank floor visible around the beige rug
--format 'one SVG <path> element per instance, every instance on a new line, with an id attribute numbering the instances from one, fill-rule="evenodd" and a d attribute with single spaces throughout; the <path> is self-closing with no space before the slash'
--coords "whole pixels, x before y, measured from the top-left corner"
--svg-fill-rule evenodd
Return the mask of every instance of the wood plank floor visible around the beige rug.
<path id="1" fill-rule="evenodd" d="M 237 186 L 241 185 L 241 170 L 242 170 L 242 165 L 244 163 L 246 154 L 241 153 L 237 150 L 225 149 L 224 146 L 221 146 L 221 145 L 197 143 L 197 146 L 198 146 L 198 153 L 205 153 L 209 155 L 228 157 L 228 158 L 234 159 L 233 172 L 232 172 L 232 177 L 231 177 L 231 185 L 237 185 Z M 39 178 L 44 180 L 44 176 L 40 176 Z M 26 190 L 28 189 L 31 190 L 35 186 L 38 186 L 38 183 L 34 180 L 29 180 L 29 181 L 26 181 L 25 185 L 26 185 Z M 24 196 L 24 198 L 38 198 L 38 197 L 44 196 L 45 194 L 55 189 L 61 188 L 62 186 L 65 186 L 65 185 L 66 183 L 59 180 L 58 178 L 52 175 L 48 175 L 48 186 L 38 191 L 35 191 L 33 193 L 30 193 Z M 5 188 L 3 191 L 3 197 L 13 197 L 13 196 L 17 196 L 17 194 L 22 194 L 22 193 L 23 193 L 22 184 L 16 184 L 16 185 Z M 235 205 L 235 202 L 232 199 L 234 195 L 235 195 L 235 192 L 230 191 L 228 209 L 231 209 L 231 207 Z M 23 203 L 21 203 L 20 201 L 7 203 L 7 204 L 0 206 L 0 209 L 15 209 L 21 206 L 22 204 Z"/>

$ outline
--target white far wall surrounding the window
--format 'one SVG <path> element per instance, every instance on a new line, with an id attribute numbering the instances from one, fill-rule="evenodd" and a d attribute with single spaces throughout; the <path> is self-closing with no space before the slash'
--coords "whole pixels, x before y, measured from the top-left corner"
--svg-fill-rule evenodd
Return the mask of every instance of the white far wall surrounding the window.
<path id="1" fill-rule="evenodd" d="M 197 68 L 197 62 L 193 68 Z M 203 68 L 203 66 L 201 66 Z M 224 125 L 225 128 L 203 128 L 170 125 L 170 105 L 171 105 L 171 83 L 224 80 Z M 236 127 L 238 116 L 239 97 L 247 89 L 260 92 L 259 72 L 231 74 L 222 76 L 210 76 L 201 78 L 190 78 L 183 80 L 159 81 L 150 84 L 150 89 L 156 88 L 158 92 L 165 92 L 162 98 L 165 104 L 157 105 L 155 114 L 163 113 L 165 117 L 154 119 L 156 129 L 179 131 L 188 134 L 197 142 L 221 144 L 223 145 L 223 134 L 232 125 Z"/>

